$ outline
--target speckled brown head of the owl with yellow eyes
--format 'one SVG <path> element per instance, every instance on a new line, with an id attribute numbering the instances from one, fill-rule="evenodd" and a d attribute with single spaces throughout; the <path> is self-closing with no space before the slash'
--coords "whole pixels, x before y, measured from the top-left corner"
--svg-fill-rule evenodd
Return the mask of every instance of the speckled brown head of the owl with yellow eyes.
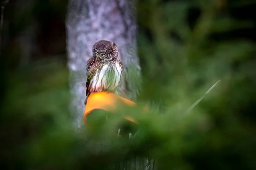
<path id="1" fill-rule="evenodd" d="M 98 61 L 102 59 L 112 59 L 113 57 L 118 57 L 118 48 L 114 42 L 99 40 L 93 45 L 93 56 L 95 56 Z"/>

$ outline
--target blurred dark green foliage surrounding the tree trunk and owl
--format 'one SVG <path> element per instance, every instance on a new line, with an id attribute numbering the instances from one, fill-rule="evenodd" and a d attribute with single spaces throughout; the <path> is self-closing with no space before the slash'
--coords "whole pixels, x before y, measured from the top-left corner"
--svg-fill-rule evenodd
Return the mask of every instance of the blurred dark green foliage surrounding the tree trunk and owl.
<path id="1" fill-rule="evenodd" d="M 138 1 L 136 102 L 150 111 L 120 107 L 93 130 L 71 124 L 67 1 L 19 3 L 6 5 L 2 32 L 1 169 L 256 169 L 255 0 Z M 115 135 L 124 114 L 140 122 L 129 140 Z"/>

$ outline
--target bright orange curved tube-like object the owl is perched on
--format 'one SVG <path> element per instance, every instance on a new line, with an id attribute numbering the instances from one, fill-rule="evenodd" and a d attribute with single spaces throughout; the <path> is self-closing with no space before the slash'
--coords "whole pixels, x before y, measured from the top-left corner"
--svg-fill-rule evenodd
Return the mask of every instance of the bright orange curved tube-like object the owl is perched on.
<path id="1" fill-rule="evenodd" d="M 132 102 L 131 100 L 125 99 L 113 93 L 100 92 L 90 94 L 87 99 L 87 105 L 84 111 L 84 124 L 87 125 L 86 117 L 91 111 L 95 109 L 102 109 L 105 111 L 113 112 L 116 109 L 117 102 L 123 102 L 130 106 L 136 105 L 136 103 Z M 134 118 L 130 116 L 125 116 L 125 119 L 134 123 L 138 123 Z"/>

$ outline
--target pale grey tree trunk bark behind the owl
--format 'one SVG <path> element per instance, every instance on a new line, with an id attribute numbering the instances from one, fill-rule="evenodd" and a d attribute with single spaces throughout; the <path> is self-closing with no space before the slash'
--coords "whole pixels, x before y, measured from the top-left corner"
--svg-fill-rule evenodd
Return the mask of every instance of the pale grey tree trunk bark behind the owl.
<path id="1" fill-rule="evenodd" d="M 72 108 L 75 113 L 73 123 L 76 127 L 83 125 L 85 68 L 87 60 L 92 56 L 92 46 L 97 40 L 116 43 L 126 71 L 125 82 L 121 85 L 122 94 L 128 99 L 135 99 L 138 94 L 136 83 L 140 76 L 140 65 L 133 3 L 133 0 L 69 1 L 66 20 L 67 57 L 73 95 Z"/>

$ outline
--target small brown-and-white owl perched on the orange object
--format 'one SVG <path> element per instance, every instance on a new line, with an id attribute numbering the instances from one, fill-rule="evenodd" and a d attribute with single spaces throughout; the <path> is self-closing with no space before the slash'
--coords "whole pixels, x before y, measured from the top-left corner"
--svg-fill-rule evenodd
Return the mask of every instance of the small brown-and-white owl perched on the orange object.
<path id="1" fill-rule="evenodd" d="M 102 91 L 116 93 L 123 75 L 123 64 L 115 43 L 99 40 L 93 45 L 93 57 L 86 65 L 86 105 L 91 93 Z"/>

